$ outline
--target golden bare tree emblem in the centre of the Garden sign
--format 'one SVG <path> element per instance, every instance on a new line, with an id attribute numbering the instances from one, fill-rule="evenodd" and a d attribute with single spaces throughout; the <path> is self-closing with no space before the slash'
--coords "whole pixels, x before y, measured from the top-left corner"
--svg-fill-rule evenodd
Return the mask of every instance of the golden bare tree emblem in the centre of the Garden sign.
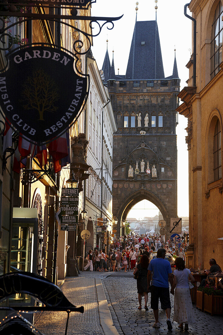
<path id="1" fill-rule="evenodd" d="M 58 107 L 59 90 L 56 83 L 42 69 L 36 70 L 27 78 L 23 86 L 23 107 L 36 110 L 40 121 L 44 121 L 44 113 L 55 112 Z"/>

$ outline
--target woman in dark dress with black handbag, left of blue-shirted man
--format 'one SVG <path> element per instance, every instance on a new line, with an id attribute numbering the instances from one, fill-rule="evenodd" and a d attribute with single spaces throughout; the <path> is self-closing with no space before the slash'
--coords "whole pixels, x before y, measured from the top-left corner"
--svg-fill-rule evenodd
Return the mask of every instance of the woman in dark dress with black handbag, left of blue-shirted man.
<path id="1" fill-rule="evenodd" d="M 148 283 L 147 283 L 147 273 L 149 266 L 149 258 L 146 255 L 142 255 L 139 264 L 136 266 L 135 271 L 133 272 L 134 278 L 137 280 L 137 292 L 139 298 L 139 307 L 138 310 L 142 309 L 142 294 L 144 293 L 145 297 L 145 310 L 148 311 L 147 302 L 148 302 Z"/>

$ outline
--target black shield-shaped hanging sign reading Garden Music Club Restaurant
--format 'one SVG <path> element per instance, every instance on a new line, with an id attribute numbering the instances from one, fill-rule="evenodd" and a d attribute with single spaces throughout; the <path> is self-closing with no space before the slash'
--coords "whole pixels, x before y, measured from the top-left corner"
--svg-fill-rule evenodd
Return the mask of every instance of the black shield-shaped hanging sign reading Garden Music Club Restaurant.
<path id="1" fill-rule="evenodd" d="M 30 1 L 30 0 L 29 0 Z M 0 73 L 0 111 L 14 131 L 41 146 L 73 124 L 87 97 L 87 78 L 74 72 L 75 59 L 49 47 L 8 53 Z"/>

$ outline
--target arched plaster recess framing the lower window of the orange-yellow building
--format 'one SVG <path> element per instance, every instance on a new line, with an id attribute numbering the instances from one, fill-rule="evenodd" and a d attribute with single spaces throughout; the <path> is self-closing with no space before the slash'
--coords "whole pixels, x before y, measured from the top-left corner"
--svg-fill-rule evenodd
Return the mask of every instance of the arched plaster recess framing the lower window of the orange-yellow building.
<path id="1" fill-rule="evenodd" d="M 210 190 L 213 188 L 218 187 L 219 193 L 222 193 L 223 187 L 222 187 L 222 177 L 218 180 L 214 180 L 214 155 L 213 155 L 213 147 L 214 147 L 214 132 L 215 132 L 215 126 L 216 122 L 219 120 L 220 127 L 221 127 L 221 133 L 222 133 L 222 118 L 217 109 L 213 110 L 210 113 L 208 123 L 207 123 L 207 130 L 206 130 L 206 139 L 205 139 L 205 165 L 206 165 L 206 198 L 210 196 Z M 222 145 L 222 137 L 221 137 L 221 148 Z M 222 166 L 221 166 L 222 168 Z"/>

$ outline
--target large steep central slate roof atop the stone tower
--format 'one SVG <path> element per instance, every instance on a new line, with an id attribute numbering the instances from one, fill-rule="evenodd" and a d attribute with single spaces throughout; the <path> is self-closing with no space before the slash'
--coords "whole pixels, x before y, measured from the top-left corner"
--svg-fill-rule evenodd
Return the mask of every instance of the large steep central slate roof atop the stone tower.
<path id="1" fill-rule="evenodd" d="M 145 45 L 142 45 L 142 42 L 145 42 Z M 164 70 L 157 23 L 156 21 L 136 21 L 126 79 L 162 78 L 164 78 Z"/>

